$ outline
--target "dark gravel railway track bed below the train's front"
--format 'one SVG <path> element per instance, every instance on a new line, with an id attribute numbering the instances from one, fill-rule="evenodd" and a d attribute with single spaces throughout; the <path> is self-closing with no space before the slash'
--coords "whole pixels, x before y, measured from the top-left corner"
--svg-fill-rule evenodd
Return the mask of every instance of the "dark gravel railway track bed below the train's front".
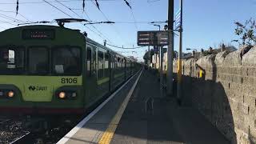
<path id="1" fill-rule="evenodd" d="M 0 117 L 0 143 L 53 144 L 78 122 L 79 118 L 57 121 L 54 118 Z M 47 126 L 45 122 L 48 122 Z"/>

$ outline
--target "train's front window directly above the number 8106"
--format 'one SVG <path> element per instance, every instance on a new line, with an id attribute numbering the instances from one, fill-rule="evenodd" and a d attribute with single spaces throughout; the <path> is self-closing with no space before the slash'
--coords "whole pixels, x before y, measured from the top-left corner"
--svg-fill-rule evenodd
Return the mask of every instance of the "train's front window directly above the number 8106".
<path id="1" fill-rule="evenodd" d="M 81 74 L 81 51 L 78 47 L 57 47 L 52 51 L 55 75 Z"/>

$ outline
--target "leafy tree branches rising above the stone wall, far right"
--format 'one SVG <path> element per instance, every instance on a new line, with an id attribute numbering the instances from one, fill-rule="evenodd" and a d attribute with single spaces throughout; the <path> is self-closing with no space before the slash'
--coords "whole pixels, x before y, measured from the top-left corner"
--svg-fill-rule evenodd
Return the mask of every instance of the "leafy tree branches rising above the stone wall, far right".
<path id="1" fill-rule="evenodd" d="M 234 33 L 240 37 L 242 42 L 241 45 L 254 46 L 256 44 L 256 22 L 253 18 L 247 20 L 244 24 L 241 22 L 234 22 L 237 28 Z"/>

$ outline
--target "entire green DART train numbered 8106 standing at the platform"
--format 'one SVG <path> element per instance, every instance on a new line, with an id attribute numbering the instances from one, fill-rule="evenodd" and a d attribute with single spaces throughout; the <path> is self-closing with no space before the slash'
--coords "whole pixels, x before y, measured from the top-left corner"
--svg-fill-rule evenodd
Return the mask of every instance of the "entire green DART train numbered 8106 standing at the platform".
<path id="1" fill-rule="evenodd" d="M 0 112 L 82 114 L 140 64 L 62 26 L 0 32 Z"/>

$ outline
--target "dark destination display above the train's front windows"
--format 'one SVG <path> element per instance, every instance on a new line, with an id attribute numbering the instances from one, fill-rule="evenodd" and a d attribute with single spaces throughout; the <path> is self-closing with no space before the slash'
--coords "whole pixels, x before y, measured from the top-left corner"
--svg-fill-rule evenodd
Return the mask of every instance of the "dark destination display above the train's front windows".
<path id="1" fill-rule="evenodd" d="M 55 31 L 54 30 L 34 30 L 26 29 L 22 31 L 23 39 L 54 39 Z"/>

